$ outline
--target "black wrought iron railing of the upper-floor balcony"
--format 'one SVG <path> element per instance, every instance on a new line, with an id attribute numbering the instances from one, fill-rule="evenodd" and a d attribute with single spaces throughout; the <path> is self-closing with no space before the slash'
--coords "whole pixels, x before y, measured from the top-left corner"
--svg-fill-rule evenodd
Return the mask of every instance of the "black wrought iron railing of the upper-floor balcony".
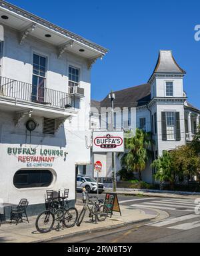
<path id="1" fill-rule="evenodd" d="M 30 83 L 0 77 L 0 97 L 9 97 L 60 108 L 74 107 L 73 95 L 46 88 L 44 81 L 39 85 L 31 85 Z"/>

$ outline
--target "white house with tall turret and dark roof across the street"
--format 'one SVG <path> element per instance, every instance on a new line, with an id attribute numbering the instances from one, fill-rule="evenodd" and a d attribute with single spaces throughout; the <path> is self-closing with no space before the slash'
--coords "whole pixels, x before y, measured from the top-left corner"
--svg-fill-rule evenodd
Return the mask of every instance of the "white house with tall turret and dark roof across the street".
<path id="1" fill-rule="evenodd" d="M 199 125 L 200 110 L 187 101 L 183 80 L 185 71 L 176 63 L 171 51 L 159 51 L 156 67 L 148 83 L 115 91 L 114 127 L 116 130 L 141 128 L 153 134 L 153 158 L 164 150 L 189 143 Z M 103 101 L 91 101 L 91 129 L 111 129 L 109 95 Z M 104 155 L 107 177 L 111 177 L 111 153 Z M 98 158 L 98 157 L 97 157 Z M 117 171 L 121 169 L 116 159 Z M 92 168 L 88 168 L 92 175 Z M 148 165 L 143 180 L 153 182 Z"/>

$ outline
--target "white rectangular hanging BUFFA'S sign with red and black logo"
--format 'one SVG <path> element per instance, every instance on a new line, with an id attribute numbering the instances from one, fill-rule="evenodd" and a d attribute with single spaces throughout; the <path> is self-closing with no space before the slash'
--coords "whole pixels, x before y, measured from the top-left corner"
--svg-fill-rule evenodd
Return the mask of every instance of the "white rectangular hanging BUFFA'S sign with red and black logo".
<path id="1" fill-rule="evenodd" d="M 124 152 L 123 132 L 94 132 L 93 152 Z"/>

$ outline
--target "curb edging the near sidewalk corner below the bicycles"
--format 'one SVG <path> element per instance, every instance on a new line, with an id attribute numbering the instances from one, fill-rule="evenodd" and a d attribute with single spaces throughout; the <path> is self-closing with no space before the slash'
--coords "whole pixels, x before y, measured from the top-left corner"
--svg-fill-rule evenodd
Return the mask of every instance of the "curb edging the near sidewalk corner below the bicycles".
<path id="1" fill-rule="evenodd" d="M 112 230 L 112 229 L 118 229 L 120 227 L 126 227 L 127 225 L 133 225 L 133 224 L 137 224 L 137 223 L 142 223 L 142 222 L 148 222 L 151 221 L 152 219 L 156 219 L 158 216 L 156 217 L 152 217 L 152 218 L 147 218 L 147 219 L 141 219 L 139 221 L 128 221 L 128 222 L 124 222 L 121 224 L 117 224 L 117 225 L 112 225 L 112 226 L 108 226 L 108 227 L 97 227 L 95 229 L 87 229 L 84 231 L 78 231 L 75 233 L 71 233 L 71 234 L 66 234 L 66 235 L 61 235 L 61 236 L 57 236 L 57 237 L 52 237 L 49 239 L 40 239 L 37 241 L 33 241 L 31 243 L 47 243 L 47 242 L 51 242 L 51 241 L 56 241 L 59 239 L 65 239 L 67 237 L 77 237 L 79 235 L 85 235 L 85 234 L 91 234 L 91 233 L 96 233 L 99 231 L 107 231 L 107 230 Z"/>

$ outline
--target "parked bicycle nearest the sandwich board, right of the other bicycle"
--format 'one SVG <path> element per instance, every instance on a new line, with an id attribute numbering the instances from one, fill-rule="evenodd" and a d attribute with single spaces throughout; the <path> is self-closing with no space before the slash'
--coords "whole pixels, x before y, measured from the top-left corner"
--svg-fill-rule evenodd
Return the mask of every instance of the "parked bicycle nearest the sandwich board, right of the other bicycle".
<path id="1" fill-rule="evenodd" d="M 97 199 L 95 202 L 92 201 L 92 199 Z M 99 202 L 97 204 L 97 201 Z M 89 218 L 95 217 L 95 223 L 98 221 L 105 221 L 108 215 L 108 208 L 106 205 L 103 205 L 104 200 L 103 199 L 98 199 L 98 197 L 89 197 L 87 199 L 87 202 L 83 205 L 83 209 L 77 219 L 77 226 L 79 227 L 85 217 L 85 213 L 87 209 L 89 210 Z M 89 207 L 89 205 L 92 205 Z"/>

